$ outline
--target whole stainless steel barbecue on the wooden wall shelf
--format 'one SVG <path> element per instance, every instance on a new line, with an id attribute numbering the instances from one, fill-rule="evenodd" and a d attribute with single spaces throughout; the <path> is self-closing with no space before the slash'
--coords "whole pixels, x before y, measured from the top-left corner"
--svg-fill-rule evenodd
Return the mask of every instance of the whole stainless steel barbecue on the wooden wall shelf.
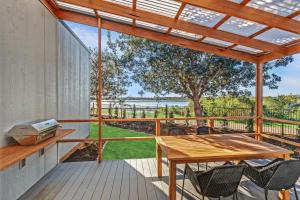
<path id="1" fill-rule="evenodd" d="M 14 126 L 8 132 L 20 145 L 34 145 L 55 136 L 59 127 L 55 119 L 37 120 Z"/>

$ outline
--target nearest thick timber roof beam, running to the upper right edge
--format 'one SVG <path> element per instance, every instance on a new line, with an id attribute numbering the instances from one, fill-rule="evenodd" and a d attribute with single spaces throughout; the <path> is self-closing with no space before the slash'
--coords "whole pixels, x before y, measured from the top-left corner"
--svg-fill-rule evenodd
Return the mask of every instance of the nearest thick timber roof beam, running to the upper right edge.
<path id="1" fill-rule="evenodd" d="M 198 7 L 300 34 L 300 22 L 227 0 L 179 0 Z"/>

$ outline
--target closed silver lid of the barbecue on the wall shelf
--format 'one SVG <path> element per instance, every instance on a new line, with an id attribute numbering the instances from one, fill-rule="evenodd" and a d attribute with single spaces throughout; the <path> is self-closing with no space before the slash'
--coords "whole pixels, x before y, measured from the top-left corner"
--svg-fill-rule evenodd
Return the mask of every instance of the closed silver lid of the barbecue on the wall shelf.
<path id="1" fill-rule="evenodd" d="M 59 126 L 55 119 L 36 120 L 19 125 L 15 125 L 8 131 L 7 136 L 16 135 L 40 135 Z"/>

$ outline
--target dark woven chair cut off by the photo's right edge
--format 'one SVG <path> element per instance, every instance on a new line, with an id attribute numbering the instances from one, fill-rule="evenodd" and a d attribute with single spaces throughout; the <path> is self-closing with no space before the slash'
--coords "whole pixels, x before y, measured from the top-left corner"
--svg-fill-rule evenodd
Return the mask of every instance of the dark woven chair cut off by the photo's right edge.
<path id="1" fill-rule="evenodd" d="M 289 190 L 294 188 L 298 200 L 296 182 L 300 176 L 300 160 L 275 159 L 264 166 L 253 167 L 246 161 L 245 175 L 256 185 L 265 190 L 265 199 L 268 199 L 268 191 Z"/>

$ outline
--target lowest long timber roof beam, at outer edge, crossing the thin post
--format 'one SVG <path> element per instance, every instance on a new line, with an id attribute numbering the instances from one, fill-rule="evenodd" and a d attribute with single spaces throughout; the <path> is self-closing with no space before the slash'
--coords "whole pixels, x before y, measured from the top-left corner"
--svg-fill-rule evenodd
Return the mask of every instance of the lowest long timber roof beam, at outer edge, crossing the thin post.
<path id="1" fill-rule="evenodd" d="M 61 20 L 68 20 L 80 24 L 97 27 L 97 19 L 91 16 L 78 14 L 72 11 L 63 11 L 63 10 L 57 11 L 56 16 Z M 134 35 L 137 37 L 142 37 L 142 38 L 146 38 L 146 39 L 150 39 L 162 43 L 189 48 L 197 51 L 214 53 L 219 56 L 229 57 L 236 60 L 244 60 L 251 63 L 256 63 L 258 61 L 258 58 L 256 56 L 247 53 L 242 53 L 242 52 L 238 52 L 238 51 L 234 51 L 222 47 L 215 47 L 209 44 L 199 43 L 197 41 L 179 38 L 168 34 L 163 34 L 156 31 L 146 30 L 138 27 L 133 28 L 130 25 L 112 22 L 108 20 L 102 20 L 102 28 L 111 31 L 120 32 L 120 33 L 125 33 L 128 35 Z"/>

